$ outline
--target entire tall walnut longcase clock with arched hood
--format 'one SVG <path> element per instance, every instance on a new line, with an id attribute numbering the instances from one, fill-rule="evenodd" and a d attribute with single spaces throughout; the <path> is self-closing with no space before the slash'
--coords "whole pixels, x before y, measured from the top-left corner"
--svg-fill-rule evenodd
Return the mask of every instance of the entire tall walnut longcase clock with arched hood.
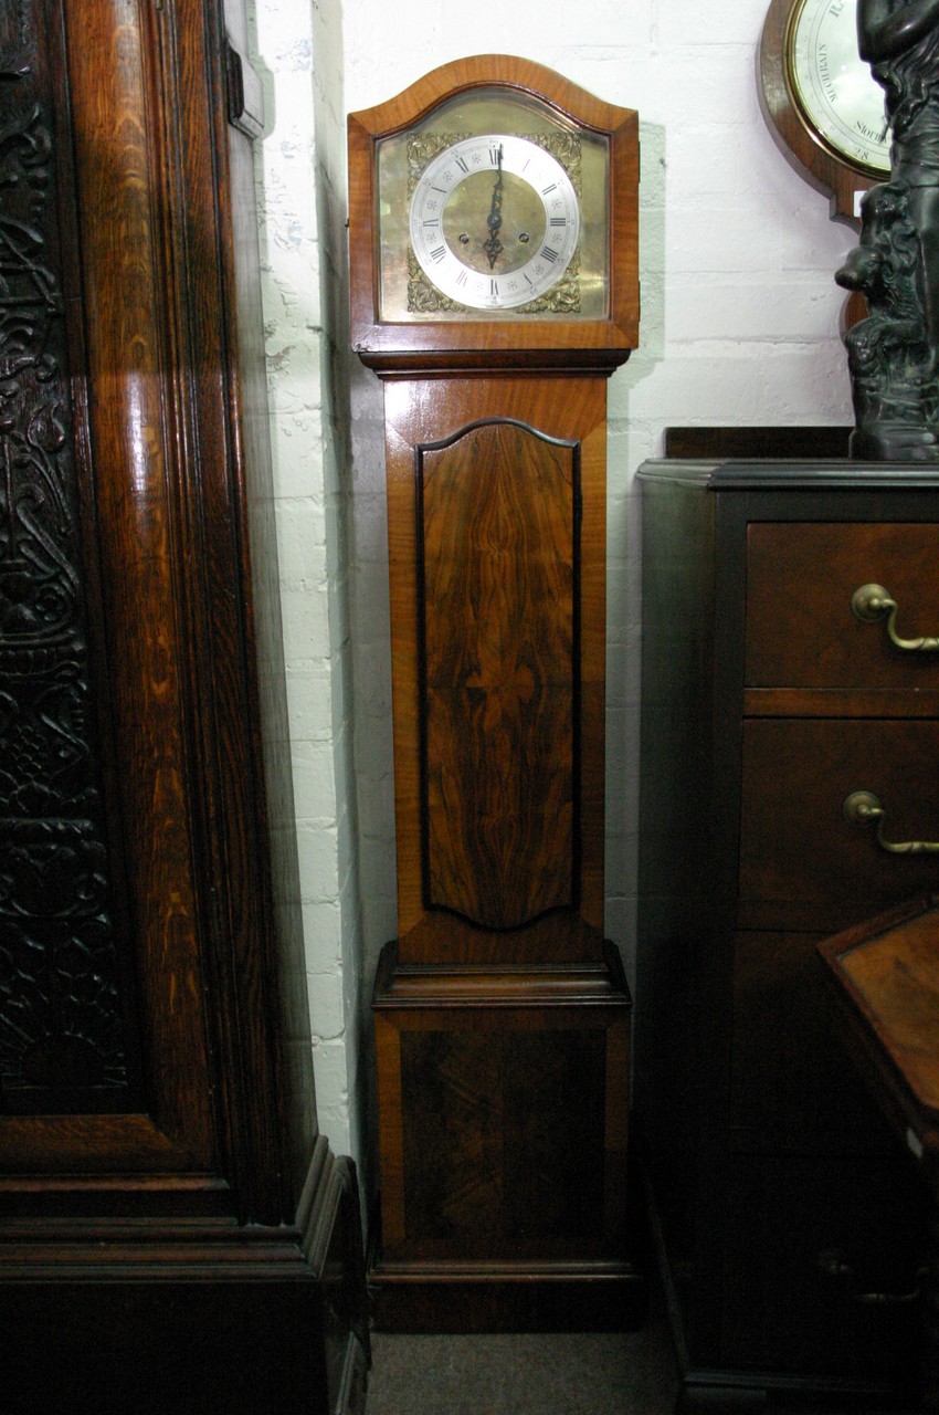
<path id="1" fill-rule="evenodd" d="M 349 216 L 354 345 L 385 388 L 397 829 L 376 1317 L 614 1324 L 641 1292 L 631 1000 L 602 932 L 636 113 L 523 59 L 448 64 L 351 115 Z"/>

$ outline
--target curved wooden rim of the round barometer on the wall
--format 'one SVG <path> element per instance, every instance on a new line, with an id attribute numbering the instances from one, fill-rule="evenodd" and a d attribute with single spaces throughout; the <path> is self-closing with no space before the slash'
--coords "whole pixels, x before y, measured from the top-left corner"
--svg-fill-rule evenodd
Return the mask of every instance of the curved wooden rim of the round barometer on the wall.
<path id="1" fill-rule="evenodd" d="M 860 197 L 884 178 L 867 177 L 839 160 L 806 127 L 786 82 L 786 30 L 799 3 L 771 0 L 757 51 L 759 106 L 786 160 L 816 191 L 830 198 L 832 219 L 860 229 Z"/>

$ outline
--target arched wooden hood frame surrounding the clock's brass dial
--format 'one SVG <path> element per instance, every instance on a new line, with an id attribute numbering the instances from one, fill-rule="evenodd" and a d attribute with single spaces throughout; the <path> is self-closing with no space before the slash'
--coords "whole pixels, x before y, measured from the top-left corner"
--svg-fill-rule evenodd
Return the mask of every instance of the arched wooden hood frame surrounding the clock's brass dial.
<path id="1" fill-rule="evenodd" d="M 610 300 L 602 318 L 519 318 L 484 314 L 458 324 L 390 323 L 379 314 L 376 154 L 387 137 L 457 93 L 505 88 L 544 102 L 610 143 Z M 611 372 L 638 342 L 639 122 L 634 109 L 604 103 L 540 64 L 511 55 L 457 59 L 417 79 L 396 98 L 351 113 L 349 263 L 352 345 L 379 374 L 474 368 L 581 368 Z"/>

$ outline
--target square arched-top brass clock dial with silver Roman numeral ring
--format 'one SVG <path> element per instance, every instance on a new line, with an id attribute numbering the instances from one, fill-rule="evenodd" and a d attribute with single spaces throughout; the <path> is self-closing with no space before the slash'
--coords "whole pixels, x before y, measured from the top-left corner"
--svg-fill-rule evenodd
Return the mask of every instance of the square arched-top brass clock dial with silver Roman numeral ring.
<path id="1" fill-rule="evenodd" d="M 602 318 L 610 139 L 530 93 L 474 89 L 378 144 L 378 228 L 382 320 Z"/>

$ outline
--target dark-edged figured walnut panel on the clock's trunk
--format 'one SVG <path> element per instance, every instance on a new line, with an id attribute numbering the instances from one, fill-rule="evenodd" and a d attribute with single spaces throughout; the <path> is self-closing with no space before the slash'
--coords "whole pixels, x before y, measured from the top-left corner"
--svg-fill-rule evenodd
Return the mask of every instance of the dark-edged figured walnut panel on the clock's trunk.
<path id="1" fill-rule="evenodd" d="M 419 449 L 427 903 L 489 928 L 576 903 L 577 473 L 511 422 Z"/>

